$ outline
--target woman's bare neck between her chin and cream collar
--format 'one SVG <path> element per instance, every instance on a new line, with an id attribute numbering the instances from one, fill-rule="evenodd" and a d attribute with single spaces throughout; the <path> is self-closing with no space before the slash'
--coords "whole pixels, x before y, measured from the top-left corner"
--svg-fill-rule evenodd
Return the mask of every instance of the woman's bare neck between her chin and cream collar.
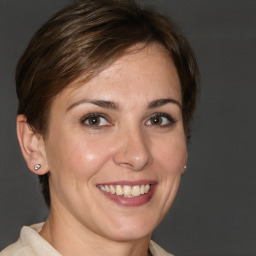
<path id="1" fill-rule="evenodd" d="M 132 241 L 114 241 L 88 230 L 71 218 L 67 219 L 63 215 L 51 214 L 40 232 L 40 235 L 64 256 L 150 255 L 150 235 Z"/>

